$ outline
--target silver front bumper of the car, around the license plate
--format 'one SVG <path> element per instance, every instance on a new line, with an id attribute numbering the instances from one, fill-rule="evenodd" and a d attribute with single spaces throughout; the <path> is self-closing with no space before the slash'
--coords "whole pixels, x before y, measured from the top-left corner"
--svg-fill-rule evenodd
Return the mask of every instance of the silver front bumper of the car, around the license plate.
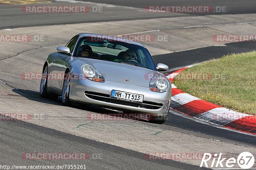
<path id="1" fill-rule="evenodd" d="M 171 92 L 153 92 L 149 90 L 149 87 L 113 82 L 108 80 L 102 83 L 74 75 L 72 76 L 73 78 L 71 78 L 69 94 L 69 98 L 71 100 L 99 107 L 115 108 L 116 110 L 130 110 L 133 112 L 157 116 L 167 115 L 169 112 L 171 103 L 170 99 L 172 95 Z M 145 104 L 143 102 L 143 104 L 138 104 L 135 106 L 136 104 L 131 104 L 131 102 L 119 102 L 120 100 L 116 101 L 111 99 L 110 94 L 112 90 L 142 94 L 144 95 L 143 101 L 145 101 Z M 92 95 L 88 95 L 88 93 L 92 94 L 92 92 L 96 93 L 96 95 L 93 95 L 96 97 L 91 97 Z M 100 95 L 98 93 L 100 93 Z M 150 104 L 153 106 L 150 106 L 150 109 L 144 107 L 148 107 Z"/>

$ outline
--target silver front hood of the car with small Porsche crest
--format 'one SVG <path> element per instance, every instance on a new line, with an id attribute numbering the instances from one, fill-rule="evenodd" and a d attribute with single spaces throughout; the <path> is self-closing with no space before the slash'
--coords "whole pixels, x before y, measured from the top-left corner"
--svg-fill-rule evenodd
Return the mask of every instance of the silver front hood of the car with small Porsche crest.
<path id="1" fill-rule="evenodd" d="M 151 78 L 157 73 L 157 71 L 154 70 L 124 63 L 115 63 L 91 58 L 79 59 L 99 70 L 105 80 L 108 81 L 149 87 Z"/>

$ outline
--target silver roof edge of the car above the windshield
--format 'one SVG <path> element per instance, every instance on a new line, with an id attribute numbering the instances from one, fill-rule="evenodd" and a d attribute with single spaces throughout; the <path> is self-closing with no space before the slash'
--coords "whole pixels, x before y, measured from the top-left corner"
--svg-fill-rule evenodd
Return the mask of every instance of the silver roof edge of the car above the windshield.
<path id="1" fill-rule="evenodd" d="M 134 45 L 138 45 L 141 47 L 146 48 L 143 44 L 136 42 L 136 41 L 131 41 L 131 40 L 127 40 L 124 38 L 119 38 L 118 36 L 111 36 L 111 35 L 104 35 L 104 34 L 97 34 L 97 33 L 82 33 L 82 36 L 96 36 L 96 37 L 102 37 L 102 38 L 107 38 L 109 40 L 114 40 L 114 41 L 121 41 L 121 42 L 126 42 L 126 43 L 130 43 L 130 44 L 134 44 Z"/>

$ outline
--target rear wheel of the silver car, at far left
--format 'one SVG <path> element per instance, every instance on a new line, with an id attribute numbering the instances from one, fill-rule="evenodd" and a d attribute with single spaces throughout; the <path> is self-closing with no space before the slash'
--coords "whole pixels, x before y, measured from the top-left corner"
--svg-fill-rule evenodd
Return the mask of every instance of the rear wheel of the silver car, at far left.
<path id="1" fill-rule="evenodd" d="M 47 92 L 47 82 L 48 82 L 48 66 L 44 67 L 43 75 L 40 82 L 40 97 L 45 99 L 57 100 L 58 95 Z"/>

